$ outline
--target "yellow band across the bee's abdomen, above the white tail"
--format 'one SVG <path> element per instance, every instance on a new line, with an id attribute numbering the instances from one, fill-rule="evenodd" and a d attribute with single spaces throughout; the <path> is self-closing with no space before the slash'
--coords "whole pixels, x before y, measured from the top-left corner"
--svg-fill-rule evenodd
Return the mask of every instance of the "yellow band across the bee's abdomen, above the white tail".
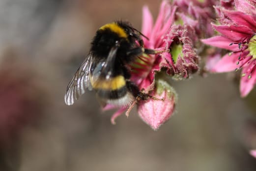
<path id="1" fill-rule="evenodd" d="M 91 78 L 91 85 L 94 89 L 117 90 L 125 86 L 125 83 L 125 79 L 121 75 L 110 80 L 97 79 L 94 81 L 93 78 Z"/>

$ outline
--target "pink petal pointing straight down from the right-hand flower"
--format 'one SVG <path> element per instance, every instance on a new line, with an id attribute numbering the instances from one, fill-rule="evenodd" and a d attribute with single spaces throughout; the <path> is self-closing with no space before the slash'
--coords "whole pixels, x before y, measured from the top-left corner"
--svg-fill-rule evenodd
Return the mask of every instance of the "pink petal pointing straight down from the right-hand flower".
<path id="1" fill-rule="evenodd" d="M 243 68 L 242 73 L 245 73 L 248 67 Z M 240 80 L 240 93 L 242 97 L 247 96 L 250 93 L 250 91 L 254 88 L 254 85 L 256 83 L 256 72 L 252 73 L 251 79 L 248 79 L 248 76 L 249 76 L 249 73 L 241 77 L 241 80 Z"/>

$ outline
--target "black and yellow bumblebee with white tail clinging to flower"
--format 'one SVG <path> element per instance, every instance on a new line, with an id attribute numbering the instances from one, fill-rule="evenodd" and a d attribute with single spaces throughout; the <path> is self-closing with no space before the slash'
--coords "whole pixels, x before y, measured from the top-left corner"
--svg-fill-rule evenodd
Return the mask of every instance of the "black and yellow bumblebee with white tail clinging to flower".
<path id="1" fill-rule="evenodd" d="M 148 99 L 150 95 L 130 81 L 131 71 L 127 67 L 143 54 L 157 53 L 144 48 L 142 36 L 145 37 L 125 21 L 100 27 L 91 41 L 89 54 L 67 86 L 66 105 L 73 105 L 86 88 L 95 91 L 103 107 L 128 106 L 136 99 Z"/>

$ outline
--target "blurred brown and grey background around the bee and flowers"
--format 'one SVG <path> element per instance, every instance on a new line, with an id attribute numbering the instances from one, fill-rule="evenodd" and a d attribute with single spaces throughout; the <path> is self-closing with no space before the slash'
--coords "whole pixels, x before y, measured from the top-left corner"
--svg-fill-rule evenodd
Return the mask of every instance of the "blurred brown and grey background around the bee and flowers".
<path id="1" fill-rule="evenodd" d="M 227 74 L 174 82 L 176 113 L 153 131 L 110 123 L 93 92 L 64 104 L 66 86 L 103 24 L 161 0 L 0 0 L 0 171 L 255 171 L 256 90 Z"/>

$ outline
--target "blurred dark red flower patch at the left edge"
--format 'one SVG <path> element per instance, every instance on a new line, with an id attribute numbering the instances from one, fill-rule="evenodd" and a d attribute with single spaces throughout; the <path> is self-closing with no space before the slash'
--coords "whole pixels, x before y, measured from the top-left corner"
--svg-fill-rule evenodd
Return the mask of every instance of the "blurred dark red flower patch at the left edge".
<path id="1" fill-rule="evenodd" d="M 0 144 L 9 144 L 24 126 L 40 116 L 42 89 L 33 78 L 35 71 L 17 62 L 14 53 L 12 50 L 4 53 L 0 64 Z"/>

